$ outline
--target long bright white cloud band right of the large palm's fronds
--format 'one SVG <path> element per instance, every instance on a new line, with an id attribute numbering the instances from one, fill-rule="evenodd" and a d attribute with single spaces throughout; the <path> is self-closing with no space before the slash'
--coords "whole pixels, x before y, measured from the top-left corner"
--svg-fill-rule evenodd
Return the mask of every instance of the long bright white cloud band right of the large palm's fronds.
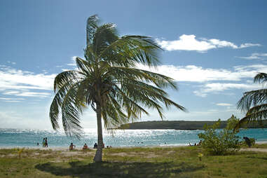
<path id="1" fill-rule="evenodd" d="M 252 78 L 259 71 L 267 73 L 267 65 L 236 66 L 233 69 L 211 69 L 195 65 L 174 66 L 160 65 L 156 69 L 138 64 L 139 69 L 149 70 L 170 76 L 175 81 L 207 82 L 207 81 L 241 81 Z"/>

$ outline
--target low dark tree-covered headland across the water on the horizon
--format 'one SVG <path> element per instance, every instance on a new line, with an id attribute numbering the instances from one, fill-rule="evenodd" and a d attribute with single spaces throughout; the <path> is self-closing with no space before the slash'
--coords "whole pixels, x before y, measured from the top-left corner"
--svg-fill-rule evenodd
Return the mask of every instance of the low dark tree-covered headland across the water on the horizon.
<path id="1" fill-rule="evenodd" d="M 217 121 L 144 121 L 121 125 L 118 129 L 176 129 L 176 130 L 202 130 L 204 125 L 212 125 Z M 227 121 L 221 121 L 220 128 L 225 128 Z M 267 121 L 262 125 L 250 123 L 245 128 L 267 128 Z"/>

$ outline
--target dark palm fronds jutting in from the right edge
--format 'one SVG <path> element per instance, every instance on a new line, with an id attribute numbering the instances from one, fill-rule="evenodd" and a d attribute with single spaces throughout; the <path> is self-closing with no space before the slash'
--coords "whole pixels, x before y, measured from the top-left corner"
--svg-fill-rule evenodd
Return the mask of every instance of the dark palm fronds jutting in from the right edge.
<path id="1" fill-rule="evenodd" d="M 254 76 L 254 83 L 265 84 L 267 82 L 267 74 L 259 73 Z M 238 101 L 238 109 L 246 112 L 246 116 L 238 122 L 235 129 L 240 128 L 247 123 L 262 123 L 267 118 L 267 88 L 252 90 L 244 93 L 243 97 Z"/>

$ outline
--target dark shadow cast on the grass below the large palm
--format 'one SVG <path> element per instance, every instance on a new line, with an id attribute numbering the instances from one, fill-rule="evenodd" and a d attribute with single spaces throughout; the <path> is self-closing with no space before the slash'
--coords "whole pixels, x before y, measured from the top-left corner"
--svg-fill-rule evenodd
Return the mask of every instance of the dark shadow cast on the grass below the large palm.
<path id="1" fill-rule="evenodd" d="M 170 177 L 182 172 L 200 170 L 204 165 L 189 163 L 44 163 L 36 169 L 60 176 L 71 177 Z"/>

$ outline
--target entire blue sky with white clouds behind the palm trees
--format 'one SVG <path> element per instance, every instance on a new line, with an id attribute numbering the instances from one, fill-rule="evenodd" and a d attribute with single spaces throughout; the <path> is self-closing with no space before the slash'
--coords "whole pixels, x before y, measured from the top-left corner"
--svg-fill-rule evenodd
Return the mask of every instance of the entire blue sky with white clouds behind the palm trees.
<path id="1" fill-rule="evenodd" d="M 267 73 L 267 1 L 0 1 L 0 128 L 52 129 L 53 79 L 83 57 L 85 22 L 97 14 L 121 36 L 151 36 L 163 48 L 156 72 L 174 78 L 165 121 L 217 121 Z M 142 68 L 142 66 L 139 66 Z M 153 70 L 153 69 L 151 69 Z M 155 71 L 155 70 L 154 70 Z M 141 121 L 160 121 L 156 111 Z M 84 128 L 96 128 L 92 109 Z"/>

